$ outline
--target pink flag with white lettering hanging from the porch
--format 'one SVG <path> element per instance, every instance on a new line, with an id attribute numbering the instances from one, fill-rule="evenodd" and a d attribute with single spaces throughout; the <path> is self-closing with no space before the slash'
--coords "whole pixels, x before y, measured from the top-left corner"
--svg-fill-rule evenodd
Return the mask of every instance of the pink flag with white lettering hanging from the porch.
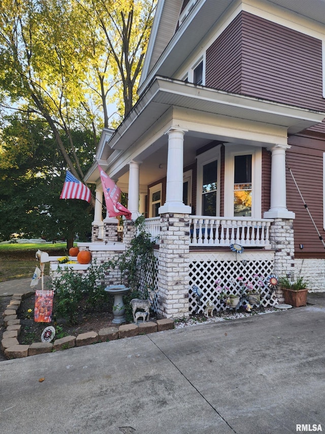
<path id="1" fill-rule="evenodd" d="M 109 217 L 125 216 L 127 220 L 132 219 L 132 214 L 129 210 L 120 204 L 121 190 L 117 187 L 114 181 L 105 173 L 102 167 L 98 164 L 101 175 L 107 214 Z"/>

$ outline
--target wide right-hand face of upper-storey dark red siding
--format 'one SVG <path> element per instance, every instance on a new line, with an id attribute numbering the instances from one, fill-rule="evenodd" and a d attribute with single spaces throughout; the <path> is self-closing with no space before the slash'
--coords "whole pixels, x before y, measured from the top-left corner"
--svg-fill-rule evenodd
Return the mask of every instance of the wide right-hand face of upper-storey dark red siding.
<path id="1" fill-rule="evenodd" d="M 321 41 L 242 12 L 241 93 L 324 110 Z"/>

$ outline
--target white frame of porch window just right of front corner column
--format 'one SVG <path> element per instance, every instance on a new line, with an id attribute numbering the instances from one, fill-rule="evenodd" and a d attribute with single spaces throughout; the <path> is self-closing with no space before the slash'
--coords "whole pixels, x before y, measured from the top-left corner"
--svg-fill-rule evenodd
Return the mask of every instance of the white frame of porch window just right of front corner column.
<path id="1" fill-rule="evenodd" d="M 197 207 L 196 214 L 202 214 L 202 185 L 203 185 L 203 166 L 217 160 L 217 197 L 216 197 L 216 215 L 220 215 L 220 146 L 209 149 L 197 156 Z"/>

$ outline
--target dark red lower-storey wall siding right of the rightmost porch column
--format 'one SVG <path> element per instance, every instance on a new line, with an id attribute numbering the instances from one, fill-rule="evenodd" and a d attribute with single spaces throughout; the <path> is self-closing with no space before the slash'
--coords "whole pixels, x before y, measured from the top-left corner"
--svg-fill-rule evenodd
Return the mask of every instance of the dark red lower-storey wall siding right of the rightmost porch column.
<path id="1" fill-rule="evenodd" d="M 308 206 L 320 235 L 325 239 L 323 230 L 323 151 L 325 140 L 291 136 L 291 148 L 286 152 L 286 160 L 291 168 L 299 189 Z M 308 215 L 293 178 L 287 169 L 287 208 L 296 214 L 294 220 L 295 251 L 299 257 L 320 257 L 324 248 L 316 229 Z M 303 244 L 301 250 L 299 245 Z"/>

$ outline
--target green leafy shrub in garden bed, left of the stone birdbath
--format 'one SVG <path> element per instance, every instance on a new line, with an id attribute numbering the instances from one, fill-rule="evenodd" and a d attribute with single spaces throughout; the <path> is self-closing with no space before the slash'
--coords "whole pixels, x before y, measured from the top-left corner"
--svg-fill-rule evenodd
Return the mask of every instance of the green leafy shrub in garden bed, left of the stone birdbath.
<path id="1" fill-rule="evenodd" d="M 52 280 L 54 293 L 54 315 L 76 324 L 79 303 L 85 301 L 88 309 L 99 308 L 108 300 L 104 291 L 104 278 L 111 263 L 96 266 L 95 261 L 87 274 L 79 274 L 72 269 L 60 269 L 60 276 Z"/>

